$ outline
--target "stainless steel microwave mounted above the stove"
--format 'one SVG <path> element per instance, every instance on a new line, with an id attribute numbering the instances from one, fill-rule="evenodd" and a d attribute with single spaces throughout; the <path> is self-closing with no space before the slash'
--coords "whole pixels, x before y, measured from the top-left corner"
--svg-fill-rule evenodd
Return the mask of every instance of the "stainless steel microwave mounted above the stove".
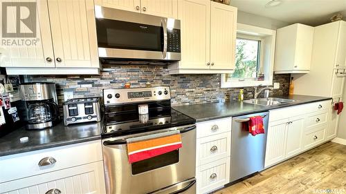
<path id="1" fill-rule="evenodd" d="M 98 55 L 116 61 L 179 61 L 180 20 L 95 6 Z"/>

